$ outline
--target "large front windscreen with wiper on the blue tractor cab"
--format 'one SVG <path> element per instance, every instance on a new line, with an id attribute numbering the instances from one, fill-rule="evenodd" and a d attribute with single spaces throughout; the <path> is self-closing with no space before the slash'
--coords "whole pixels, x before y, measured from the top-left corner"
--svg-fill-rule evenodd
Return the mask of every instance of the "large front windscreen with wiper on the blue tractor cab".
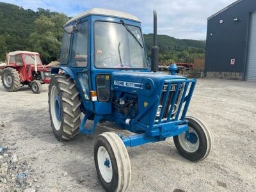
<path id="1" fill-rule="evenodd" d="M 95 22 L 95 67 L 147 68 L 141 30 L 127 27 L 115 22 Z"/>

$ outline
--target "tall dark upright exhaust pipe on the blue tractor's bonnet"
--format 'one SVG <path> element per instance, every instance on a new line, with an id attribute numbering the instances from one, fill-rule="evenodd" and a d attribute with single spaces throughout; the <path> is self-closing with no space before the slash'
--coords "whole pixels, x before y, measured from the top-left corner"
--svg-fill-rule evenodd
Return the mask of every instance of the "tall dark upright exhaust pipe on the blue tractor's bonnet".
<path id="1" fill-rule="evenodd" d="M 154 10 L 154 44 L 151 48 L 151 71 L 157 72 L 159 70 L 158 62 L 159 62 L 159 47 L 157 47 L 157 13 Z"/>

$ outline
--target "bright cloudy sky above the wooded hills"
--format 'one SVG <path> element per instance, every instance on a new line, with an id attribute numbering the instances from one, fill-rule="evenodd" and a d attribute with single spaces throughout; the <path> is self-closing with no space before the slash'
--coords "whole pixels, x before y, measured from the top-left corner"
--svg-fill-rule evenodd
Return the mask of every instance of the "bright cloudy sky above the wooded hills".
<path id="1" fill-rule="evenodd" d="M 157 10 L 157 33 L 175 38 L 206 38 L 207 17 L 235 0 L 4 0 L 23 8 L 40 7 L 52 12 L 62 12 L 72 17 L 90 8 L 108 8 L 136 15 L 142 20 L 143 33 L 153 31 L 153 10 Z"/>

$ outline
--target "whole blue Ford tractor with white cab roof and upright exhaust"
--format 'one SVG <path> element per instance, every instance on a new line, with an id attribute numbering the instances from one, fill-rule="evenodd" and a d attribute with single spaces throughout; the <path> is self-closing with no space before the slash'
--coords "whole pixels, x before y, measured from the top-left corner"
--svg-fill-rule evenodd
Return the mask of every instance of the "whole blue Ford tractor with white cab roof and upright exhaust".
<path id="1" fill-rule="evenodd" d="M 60 67 L 49 84 L 49 113 L 58 140 L 92 134 L 99 122 L 133 134 L 104 132 L 97 136 L 94 159 L 106 191 L 124 191 L 131 182 L 126 147 L 173 137 L 179 154 L 201 161 L 212 150 L 212 133 L 198 118 L 186 116 L 196 79 L 158 71 L 154 11 L 152 64 L 141 21 L 128 13 L 93 8 L 64 26 Z M 84 115 L 83 115 L 84 114 Z M 88 127 L 87 120 L 93 120 Z"/>

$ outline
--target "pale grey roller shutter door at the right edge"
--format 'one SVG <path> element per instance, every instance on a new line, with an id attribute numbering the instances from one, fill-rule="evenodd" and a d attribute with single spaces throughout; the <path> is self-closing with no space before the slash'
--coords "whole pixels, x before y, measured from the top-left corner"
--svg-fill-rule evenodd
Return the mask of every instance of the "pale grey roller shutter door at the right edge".
<path id="1" fill-rule="evenodd" d="M 256 12 L 250 17 L 246 81 L 256 81 Z"/>

